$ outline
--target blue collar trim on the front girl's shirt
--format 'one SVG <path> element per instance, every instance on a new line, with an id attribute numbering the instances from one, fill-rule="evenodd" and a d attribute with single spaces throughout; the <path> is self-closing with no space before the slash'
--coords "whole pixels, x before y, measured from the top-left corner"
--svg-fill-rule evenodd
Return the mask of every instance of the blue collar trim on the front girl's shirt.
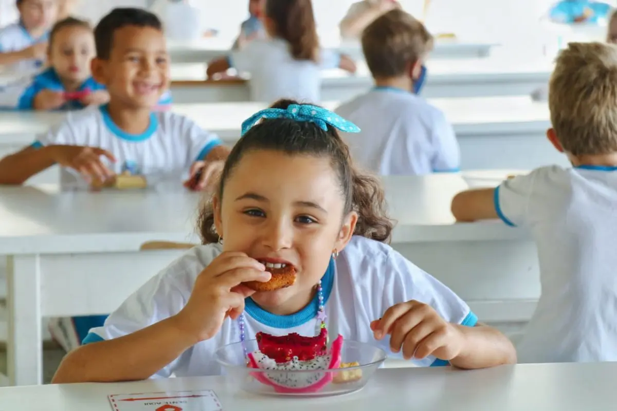
<path id="1" fill-rule="evenodd" d="M 334 258 L 330 258 L 328 269 L 321 277 L 321 290 L 323 292 L 324 305 L 328 302 L 332 287 L 334 285 Z M 291 315 L 276 315 L 271 312 L 265 311 L 262 307 L 255 304 L 252 298 L 244 300 L 244 311 L 251 315 L 252 318 L 259 321 L 263 325 L 267 325 L 272 328 L 294 328 L 299 327 L 302 324 L 314 319 L 317 315 L 317 309 L 319 308 L 319 301 L 317 295 L 315 298 L 303 309 Z"/>

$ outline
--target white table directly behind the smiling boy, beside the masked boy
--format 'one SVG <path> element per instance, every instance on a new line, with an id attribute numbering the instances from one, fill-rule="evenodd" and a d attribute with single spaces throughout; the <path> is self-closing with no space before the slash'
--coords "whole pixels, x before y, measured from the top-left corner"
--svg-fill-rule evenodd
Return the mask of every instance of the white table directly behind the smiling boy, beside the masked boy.
<path id="1" fill-rule="evenodd" d="M 530 97 L 474 97 L 431 99 L 441 108 L 458 137 L 463 170 L 532 169 L 547 164 L 567 166 L 565 156 L 545 137 L 550 126 L 546 102 Z M 323 103 L 328 108 L 336 102 Z M 174 104 L 172 110 L 189 116 L 202 128 L 217 133 L 228 144 L 240 136 L 242 121 L 265 108 L 262 103 Z M 0 112 L 0 156 L 30 144 L 64 118 L 62 113 Z M 349 136 L 353 144 L 353 135 Z M 57 171 L 33 182 L 57 182 Z"/>

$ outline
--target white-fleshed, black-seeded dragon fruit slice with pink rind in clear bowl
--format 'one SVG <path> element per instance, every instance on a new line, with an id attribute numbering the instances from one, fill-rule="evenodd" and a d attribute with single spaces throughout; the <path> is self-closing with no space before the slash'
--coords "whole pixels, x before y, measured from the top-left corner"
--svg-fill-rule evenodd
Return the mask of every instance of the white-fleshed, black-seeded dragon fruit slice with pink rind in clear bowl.
<path id="1" fill-rule="evenodd" d="M 295 338 L 296 336 L 292 337 L 292 339 Z M 325 370 L 333 370 L 341 365 L 342 344 L 343 337 L 339 335 L 333 341 L 329 352 L 326 350 L 325 354 L 314 356 L 309 360 L 300 360 L 294 356 L 288 362 L 277 362 L 260 351 L 251 352 L 248 354 L 249 367 L 272 370 L 271 372 L 252 372 L 251 375 L 260 383 L 272 386 L 277 393 L 317 393 L 334 378 L 334 373 Z M 293 372 L 296 370 L 324 370 L 324 372 Z"/>

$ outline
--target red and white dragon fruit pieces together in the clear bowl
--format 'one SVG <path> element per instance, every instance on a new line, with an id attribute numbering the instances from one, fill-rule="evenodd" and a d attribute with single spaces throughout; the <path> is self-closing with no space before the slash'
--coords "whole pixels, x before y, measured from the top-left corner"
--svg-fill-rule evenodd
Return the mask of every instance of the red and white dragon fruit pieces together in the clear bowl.
<path id="1" fill-rule="evenodd" d="M 339 335 L 328 349 L 328 331 L 321 328 L 319 335 L 305 337 L 297 333 L 272 336 L 257 333 L 258 351 L 248 354 L 249 367 L 272 370 L 254 372 L 252 376 L 277 393 L 315 393 L 333 380 L 327 372 L 341 365 L 343 338 Z M 316 372 L 290 372 L 290 371 Z M 318 372 L 323 370 L 323 372 Z"/>

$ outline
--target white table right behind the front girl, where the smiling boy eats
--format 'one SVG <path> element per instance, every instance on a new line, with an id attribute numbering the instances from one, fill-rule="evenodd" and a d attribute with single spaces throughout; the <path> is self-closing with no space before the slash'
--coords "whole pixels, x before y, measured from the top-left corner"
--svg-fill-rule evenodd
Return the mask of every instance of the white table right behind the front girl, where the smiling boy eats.
<path id="1" fill-rule="evenodd" d="M 508 172 L 478 173 L 496 185 Z M 540 288 L 526 232 L 499 221 L 452 224 L 450 199 L 468 187 L 458 174 L 386 177 L 384 184 L 398 221 L 395 249 L 468 301 L 482 321 L 529 319 Z M 110 312 L 181 253 L 139 251 L 144 242 L 197 242 L 199 198 L 165 184 L 100 193 L 0 187 L 10 383 L 41 382 L 42 317 Z"/>

